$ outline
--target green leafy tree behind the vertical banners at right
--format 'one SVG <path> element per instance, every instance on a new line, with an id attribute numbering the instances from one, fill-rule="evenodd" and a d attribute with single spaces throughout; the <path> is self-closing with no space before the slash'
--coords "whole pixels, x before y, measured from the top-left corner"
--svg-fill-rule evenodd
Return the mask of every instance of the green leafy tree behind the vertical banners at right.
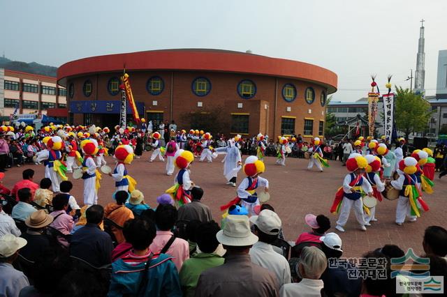
<path id="1" fill-rule="evenodd" d="M 427 100 L 409 89 L 396 86 L 395 123 L 397 130 L 404 132 L 405 139 L 411 132 L 421 132 L 427 128 L 431 114 Z"/>

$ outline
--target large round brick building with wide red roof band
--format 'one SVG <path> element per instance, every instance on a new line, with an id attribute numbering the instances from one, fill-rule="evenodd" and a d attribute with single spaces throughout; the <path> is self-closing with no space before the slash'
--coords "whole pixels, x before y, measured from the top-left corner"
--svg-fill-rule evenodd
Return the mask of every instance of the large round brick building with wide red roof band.
<path id="1" fill-rule="evenodd" d="M 330 70 L 243 52 L 154 50 L 93 56 L 57 71 L 58 84 L 67 89 L 71 123 L 119 123 L 124 67 L 140 117 L 175 120 L 187 129 L 183 114 L 219 107 L 227 135 L 322 136 L 326 98 L 337 90 L 337 75 Z"/>

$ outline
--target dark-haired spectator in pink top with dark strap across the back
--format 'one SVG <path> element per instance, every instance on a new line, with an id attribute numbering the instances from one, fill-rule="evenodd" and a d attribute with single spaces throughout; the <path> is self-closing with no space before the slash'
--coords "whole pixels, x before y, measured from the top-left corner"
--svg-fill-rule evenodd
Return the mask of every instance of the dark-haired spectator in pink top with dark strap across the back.
<path id="1" fill-rule="evenodd" d="M 160 204 L 155 211 L 156 236 L 149 247 L 155 254 L 163 251 L 173 257 L 177 271 L 189 259 L 189 244 L 182 238 L 175 238 L 173 229 L 177 221 L 177 209 L 170 204 Z"/>

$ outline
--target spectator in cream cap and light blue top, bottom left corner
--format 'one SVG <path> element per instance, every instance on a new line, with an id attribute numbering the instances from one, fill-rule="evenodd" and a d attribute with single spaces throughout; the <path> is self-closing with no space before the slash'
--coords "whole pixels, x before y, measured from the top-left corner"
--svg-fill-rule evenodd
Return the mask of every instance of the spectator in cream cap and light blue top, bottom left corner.
<path id="1" fill-rule="evenodd" d="M 13 267 L 19 250 L 27 245 L 27 241 L 13 234 L 0 238 L 0 296 L 19 296 L 20 291 L 29 286 L 28 278 Z"/>

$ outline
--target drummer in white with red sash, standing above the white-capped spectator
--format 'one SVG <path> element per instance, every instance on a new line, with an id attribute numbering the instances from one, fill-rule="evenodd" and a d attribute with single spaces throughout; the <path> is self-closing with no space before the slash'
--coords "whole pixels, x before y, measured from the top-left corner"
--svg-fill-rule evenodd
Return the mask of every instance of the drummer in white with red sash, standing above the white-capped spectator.
<path id="1" fill-rule="evenodd" d="M 362 192 L 372 197 L 373 191 L 371 184 L 363 176 L 363 172 L 367 167 L 368 162 L 362 155 L 352 153 L 346 160 L 346 169 L 349 174 L 344 177 L 343 185 L 335 195 L 334 203 L 330 208 L 331 213 L 339 213 L 337 226 L 335 229 L 344 232 L 344 225 L 348 222 L 351 208 L 354 208 L 356 219 L 360 224 L 360 230 L 366 231 L 366 221 L 363 215 L 363 201 Z"/>

